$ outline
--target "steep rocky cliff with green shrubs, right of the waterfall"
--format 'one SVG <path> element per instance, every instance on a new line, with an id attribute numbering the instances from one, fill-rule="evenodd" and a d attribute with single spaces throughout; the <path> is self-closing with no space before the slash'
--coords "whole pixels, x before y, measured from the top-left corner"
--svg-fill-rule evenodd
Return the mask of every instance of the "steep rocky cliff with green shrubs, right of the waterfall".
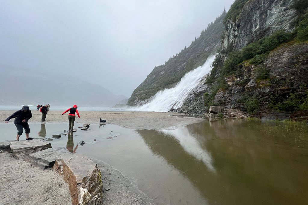
<path id="1" fill-rule="evenodd" d="M 308 120 L 308 2 L 234 4 L 211 74 L 175 111 L 203 115 L 219 105 L 261 117 Z"/>

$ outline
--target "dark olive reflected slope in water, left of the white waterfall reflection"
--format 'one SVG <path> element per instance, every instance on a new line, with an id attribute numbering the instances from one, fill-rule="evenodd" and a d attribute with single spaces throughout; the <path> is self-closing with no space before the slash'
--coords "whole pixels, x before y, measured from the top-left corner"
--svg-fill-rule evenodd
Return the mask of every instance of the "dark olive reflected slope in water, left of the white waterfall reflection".
<path id="1" fill-rule="evenodd" d="M 193 154 L 187 152 L 175 137 L 157 130 L 137 130 L 154 155 L 163 157 L 169 165 L 178 169 L 208 199 L 208 193 L 215 195 L 215 173 Z"/>

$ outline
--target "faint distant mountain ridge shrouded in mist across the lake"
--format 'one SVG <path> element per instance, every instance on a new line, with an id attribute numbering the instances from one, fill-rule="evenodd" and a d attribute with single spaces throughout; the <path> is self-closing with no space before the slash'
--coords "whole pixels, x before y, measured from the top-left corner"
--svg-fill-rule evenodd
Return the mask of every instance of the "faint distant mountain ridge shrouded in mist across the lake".
<path id="1" fill-rule="evenodd" d="M 102 86 L 70 78 L 45 76 L 0 65 L 0 105 L 47 104 L 53 106 L 110 107 L 124 95 L 112 94 Z"/>

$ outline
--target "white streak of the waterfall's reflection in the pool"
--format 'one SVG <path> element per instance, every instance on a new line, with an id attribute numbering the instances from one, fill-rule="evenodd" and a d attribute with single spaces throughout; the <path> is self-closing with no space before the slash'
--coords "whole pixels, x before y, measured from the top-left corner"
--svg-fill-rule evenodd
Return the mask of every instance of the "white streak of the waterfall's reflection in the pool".
<path id="1" fill-rule="evenodd" d="M 201 147 L 200 143 L 188 132 L 186 127 L 178 128 L 176 130 L 162 130 L 160 132 L 174 136 L 187 153 L 193 155 L 196 159 L 203 161 L 209 170 L 213 172 L 216 171 L 212 165 L 211 154 Z"/>

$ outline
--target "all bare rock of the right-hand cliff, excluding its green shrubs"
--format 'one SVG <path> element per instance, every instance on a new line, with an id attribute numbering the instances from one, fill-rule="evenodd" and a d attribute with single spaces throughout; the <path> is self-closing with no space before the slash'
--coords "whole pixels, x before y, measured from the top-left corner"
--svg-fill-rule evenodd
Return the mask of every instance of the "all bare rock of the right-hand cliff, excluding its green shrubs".
<path id="1" fill-rule="evenodd" d="M 240 50 L 249 43 L 268 36 L 277 30 L 293 31 L 298 17 L 293 0 L 250 0 L 237 17 L 226 21 L 226 30 L 221 43 L 222 49 Z M 273 107 L 286 102 L 290 96 L 302 96 L 308 88 L 308 42 L 290 42 L 274 49 L 259 65 L 243 62 L 237 65 L 236 73 L 224 80 L 228 89 L 220 89 L 213 99 L 215 105 L 247 112 L 248 98 L 257 100 L 257 115 L 271 119 L 308 120 L 307 111 L 274 111 Z M 228 56 L 223 56 L 226 59 Z M 258 78 L 260 70 L 268 72 L 265 79 Z M 221 77 L 218 69 L 215 78 Z M 177 110 L 188 115 L 202 116 L 208 113 L 204 105 L 205 92 L 211 93 L 217 81 L 201 82 L 188 96 L 186 103 Z M 295 102 L 295 101 L 294 101 Z"/>

